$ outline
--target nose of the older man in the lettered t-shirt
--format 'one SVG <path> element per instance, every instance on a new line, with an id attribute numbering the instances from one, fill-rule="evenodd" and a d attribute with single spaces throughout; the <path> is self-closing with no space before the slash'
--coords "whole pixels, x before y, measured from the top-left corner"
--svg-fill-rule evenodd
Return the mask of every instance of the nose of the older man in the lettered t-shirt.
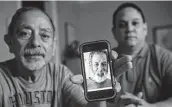
<path id="1" fill-rule="evenodd" d="M 40 47 L 40 36 L 39 34 L 34 33 L 30 40 L 30 46 L 32 48 Z"/>

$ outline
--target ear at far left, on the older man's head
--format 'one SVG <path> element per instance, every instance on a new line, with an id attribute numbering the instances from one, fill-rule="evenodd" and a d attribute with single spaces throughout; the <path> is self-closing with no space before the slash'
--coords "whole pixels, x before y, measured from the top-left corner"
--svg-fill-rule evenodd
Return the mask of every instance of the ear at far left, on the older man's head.
<path id="1" fill-rule="evenodd" d="M 12 49 L 12 46 L 13 46 L 12 37 L 9 34 L 5 34 L 4 35 L 4 41 L 8 45 L 10 53 L 13 53 L 13 49 Z"/>

